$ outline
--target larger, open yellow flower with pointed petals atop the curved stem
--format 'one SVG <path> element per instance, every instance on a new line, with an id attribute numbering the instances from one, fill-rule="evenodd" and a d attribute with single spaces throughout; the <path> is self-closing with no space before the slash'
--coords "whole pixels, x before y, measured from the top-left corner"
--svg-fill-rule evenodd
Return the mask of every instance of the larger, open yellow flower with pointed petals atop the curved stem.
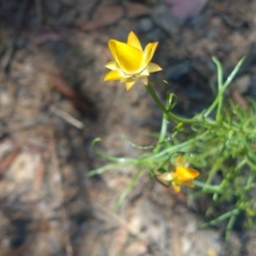
<path id="1" fill-rule="evenodd" d="M 127 43 L 111 39 L 108 41 L 108 47 L 113 55 L 114 61 L 108 62 L 105 67 L 111 71 L 108 72 L 104 81 L 120 80 L 125 82 L 126 90 L 130 90 L 138 80 L 143 84 L 148 84 L 149 73 L 161 70 L 161 67 L 151 61 L 158 42 L 149 43 L 143 50 L 137 35 L 130 32 Z"/>

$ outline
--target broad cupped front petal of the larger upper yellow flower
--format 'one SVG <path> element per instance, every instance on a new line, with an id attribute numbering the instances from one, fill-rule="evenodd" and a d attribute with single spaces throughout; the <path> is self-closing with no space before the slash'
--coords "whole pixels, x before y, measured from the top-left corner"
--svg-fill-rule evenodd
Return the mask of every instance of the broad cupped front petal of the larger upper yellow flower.
<path id="1" fill-rule="evenodd" d="M 133 74 L 141 70 L 143 51 L 116 40 L 109 40 L 108 46 L 114 60 L 125 73 Z"/>

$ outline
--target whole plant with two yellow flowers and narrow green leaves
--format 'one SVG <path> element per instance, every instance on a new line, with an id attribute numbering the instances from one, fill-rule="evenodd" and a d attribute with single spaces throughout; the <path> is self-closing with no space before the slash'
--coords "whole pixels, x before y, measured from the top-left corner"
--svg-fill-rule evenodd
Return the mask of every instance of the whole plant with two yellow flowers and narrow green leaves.
<path id="1" fill-rule="evenodd" d="M 221 63 L 212 58 L 217 67 L 218 93 L 208 108 L 187 118 L 173 112 L 172 92 L 163 103 L 154 86 L 148 83 L 150 74 L 161 70 L 158 64 L 151 62 L 158 42 L 149 43 L 143 49 L 136 34 L 130 32 L 127 43 L 111 39 L 108 46 L 113 61 L 106 65 L 110 71 L 104 80 L 119 80 L 125 83 L 126 90 L 134 84 L 146 85 L 163 119 L 157 142 L 149 150 L 145 148 L 145 154 L 136 159 L 101 154 L 111 163 L 92 170 L 89 175 L 134 166 L 136 171 L 119 203 L 131 192 L 141 174 L 148 171 L 157 182 L 176 192 L 184 185 L 191 188 L 189 197 L 207 195 L 210 207 L 206 215 L 213 218 L 209 223 L 227 221 L 227 234 L 240 214 L 247 217 L 247 225 L 252 225 L 256 216 L 253 200 L 256 193 L 256 103 L 250 101 L 251 108 L 245 111 L 224 97 L 244 58 L 226 79 Z"/>

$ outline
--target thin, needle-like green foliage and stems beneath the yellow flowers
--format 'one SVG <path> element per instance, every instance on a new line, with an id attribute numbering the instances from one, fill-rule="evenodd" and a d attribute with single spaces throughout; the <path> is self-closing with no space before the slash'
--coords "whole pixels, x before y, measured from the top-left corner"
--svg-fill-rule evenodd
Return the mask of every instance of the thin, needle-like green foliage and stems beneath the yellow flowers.
<path id="1" fill-rule="evenodd" d="M 148 93 L 163 112 L 158 143 L 137 159 L 115 158 L 102 155 L 111 161 L 90 172 L 101 174 L 122 166 L 135 166 L 137 172 L 119 199 L 125 200 L 143 171 L 152 177 L 169 172 L 173 158 L 182 154 L 201 172 L 189 198 L 200 200 L 206 196 L 210 205 L 205 212 L 207 224 L 226 223 L 226 237 L 230 235 L 236 218 L 244 216 L 244 226 L 251 227 L 256 217 L 256 102 L 248 100 L 250 108 L 243 109 L 224 98 L 224 92 L 242 65 L 238 62 L 230 76 L 224 80 L 221 63 L 213 58 L 217 67 L 218 95 L 211 106 L 193 118 L 187 119 L 172 112 L 174 95 L 160 102 L 154 88 L 148 84 Z M 169 121 L 175 123 L 170 127 Z"/>

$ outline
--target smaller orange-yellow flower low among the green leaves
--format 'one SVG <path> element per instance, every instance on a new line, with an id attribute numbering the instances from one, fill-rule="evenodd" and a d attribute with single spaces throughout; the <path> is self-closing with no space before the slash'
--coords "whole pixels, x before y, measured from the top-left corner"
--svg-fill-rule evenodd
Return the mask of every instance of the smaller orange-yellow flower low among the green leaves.
<path id="1" fill-rule="evenodd" d="M 172 184 L 176 192 L 180 191 L 181 185 L 193 187 L 193 180 L 199 176 L 199 172 L 189 168 L 189 163 L 183 160 L 183 156 L 179 155 L 174 163 L 174 168 L 171 172 L 164 172 L 157 175 L 156 178 L 160 183 L 169 186 Z"/>

